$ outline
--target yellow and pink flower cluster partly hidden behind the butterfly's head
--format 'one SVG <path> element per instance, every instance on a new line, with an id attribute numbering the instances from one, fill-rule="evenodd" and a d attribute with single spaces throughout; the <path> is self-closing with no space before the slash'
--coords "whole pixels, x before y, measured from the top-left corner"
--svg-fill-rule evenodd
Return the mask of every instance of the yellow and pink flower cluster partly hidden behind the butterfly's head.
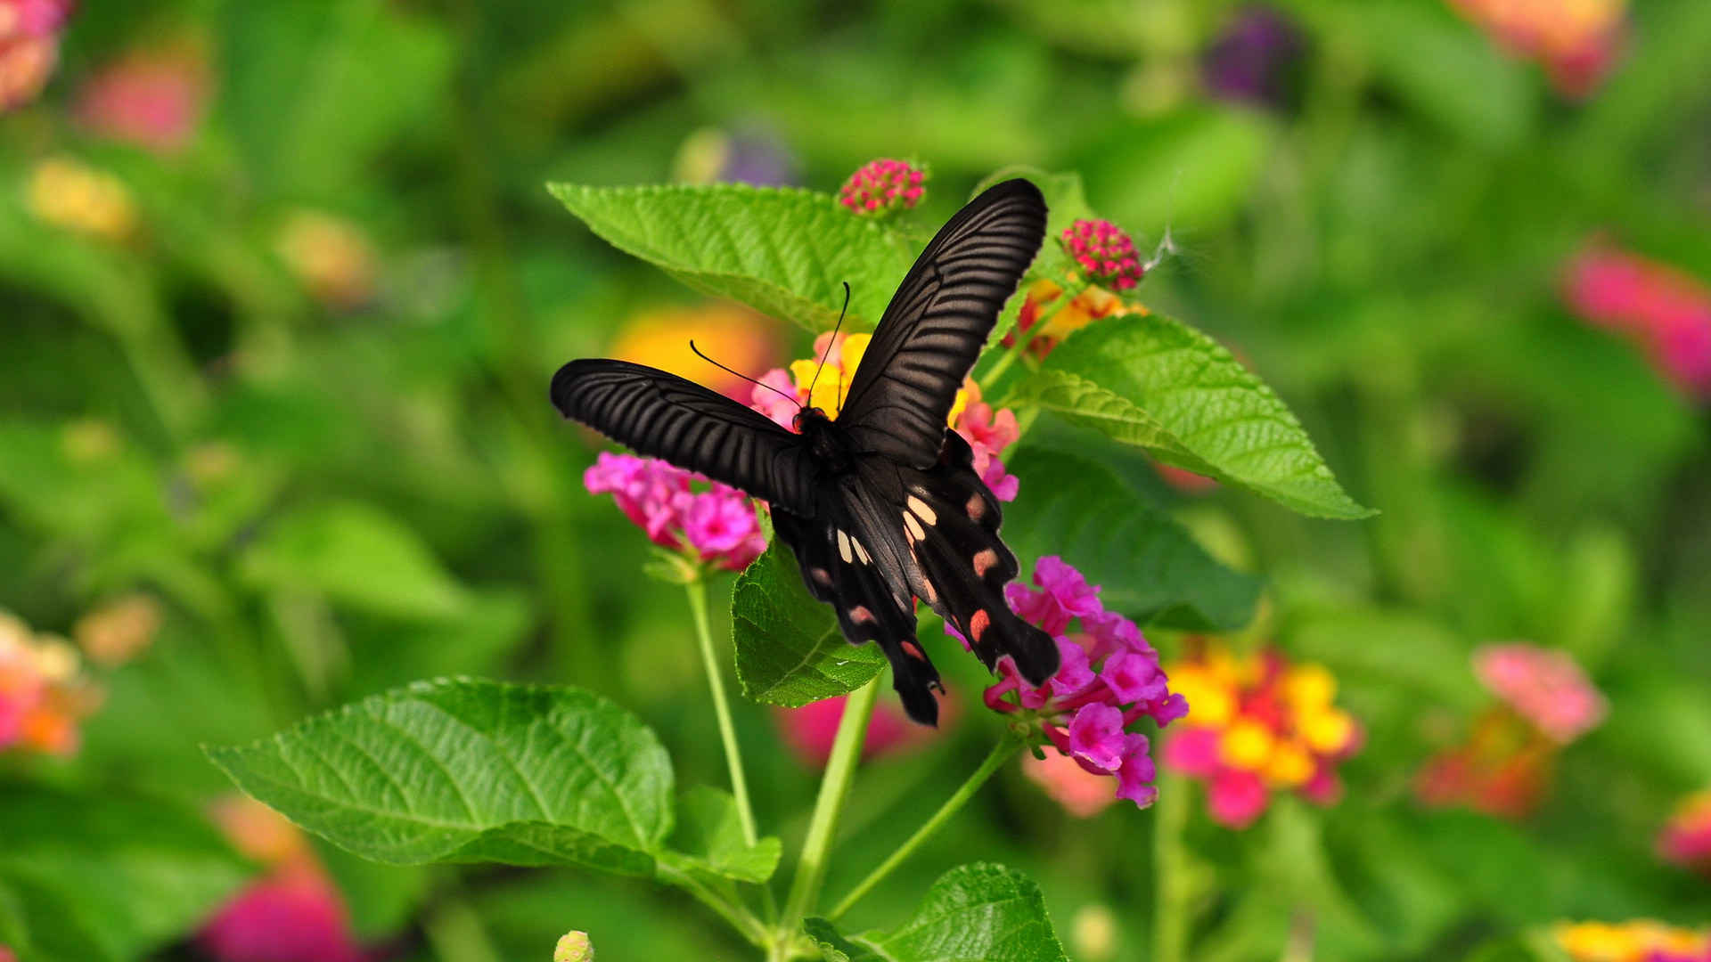
<path id="1" fill-rule="evenodd" d="M 814 339 L 813 358 L 790 361 L 789 370 L 773 368 L 760 377 L 765 387 L 755 387 L 751 406 L 785 428 L 792 426 L 799 406 L 820 407 L 828 418 L 837 419 L 869 341 L 873 341 L 869 334 L 821 334 Z M 825 368 L 820 363 L 821 356 Z M 813 394 L 808 390 L 809 385 Z M 946 423 L 968 442 L 974 450 L 974 471 L 992 495 L 1001 502 L 1015 500 L 1020 483 L 1015 474 L 1004 472 L 1004 462 L 998 457 L 1021 436 L 1015 411 L 1008 407 L 994 411 L 991 404 L 980 401 L 980 385 L 968 378 L 956 390 Z"/>

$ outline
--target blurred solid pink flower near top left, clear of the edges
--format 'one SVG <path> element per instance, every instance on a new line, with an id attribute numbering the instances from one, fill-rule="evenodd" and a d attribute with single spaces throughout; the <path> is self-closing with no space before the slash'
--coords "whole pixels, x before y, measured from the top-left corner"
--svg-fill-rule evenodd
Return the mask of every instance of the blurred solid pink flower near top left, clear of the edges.
<path id="1" fill-rule="evenodd" d="M 171 152 L 195 134 L 207 94 L 209 70 L 200 51 L 147 50 L 86 80 L 75 115 L 103 137 Z"/>

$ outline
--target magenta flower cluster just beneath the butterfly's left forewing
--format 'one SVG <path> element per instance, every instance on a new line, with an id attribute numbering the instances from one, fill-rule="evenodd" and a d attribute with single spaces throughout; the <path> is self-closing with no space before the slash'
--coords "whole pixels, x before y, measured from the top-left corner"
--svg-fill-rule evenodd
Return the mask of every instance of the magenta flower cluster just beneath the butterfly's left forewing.
<path id="1" fill-rule="evenodd" d="M 748 495 L 655 457 L 601 452 L 582 483 L 590 495 L 613 495 L 625 517 L 660 548 L 676 551 L 688 544 L 732 572 L 767 549 Z"/>

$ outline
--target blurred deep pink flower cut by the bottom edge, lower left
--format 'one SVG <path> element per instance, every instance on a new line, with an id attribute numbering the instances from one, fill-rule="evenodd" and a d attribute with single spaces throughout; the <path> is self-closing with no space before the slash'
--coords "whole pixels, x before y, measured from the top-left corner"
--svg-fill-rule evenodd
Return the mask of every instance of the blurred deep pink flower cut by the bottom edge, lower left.
<path id="1" fill-rule="evenodd" d="M 197 936 L 219 962 L 363 962 L 339 890 L 311 866 L 245 888 Z"/>

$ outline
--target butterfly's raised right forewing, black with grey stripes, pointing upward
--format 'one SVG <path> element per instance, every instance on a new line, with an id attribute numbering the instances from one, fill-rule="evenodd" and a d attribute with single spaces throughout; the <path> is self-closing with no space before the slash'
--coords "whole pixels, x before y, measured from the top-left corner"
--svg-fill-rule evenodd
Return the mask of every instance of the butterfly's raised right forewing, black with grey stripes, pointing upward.
<path id="1" fill-rule="evenodd" d="M 1045 236 L 1045 200 L 1025 180 L 968 202 L 932 238 L 862 354 L 838 426 L 871 450 L 929 467 L 956 390 Z"/>

